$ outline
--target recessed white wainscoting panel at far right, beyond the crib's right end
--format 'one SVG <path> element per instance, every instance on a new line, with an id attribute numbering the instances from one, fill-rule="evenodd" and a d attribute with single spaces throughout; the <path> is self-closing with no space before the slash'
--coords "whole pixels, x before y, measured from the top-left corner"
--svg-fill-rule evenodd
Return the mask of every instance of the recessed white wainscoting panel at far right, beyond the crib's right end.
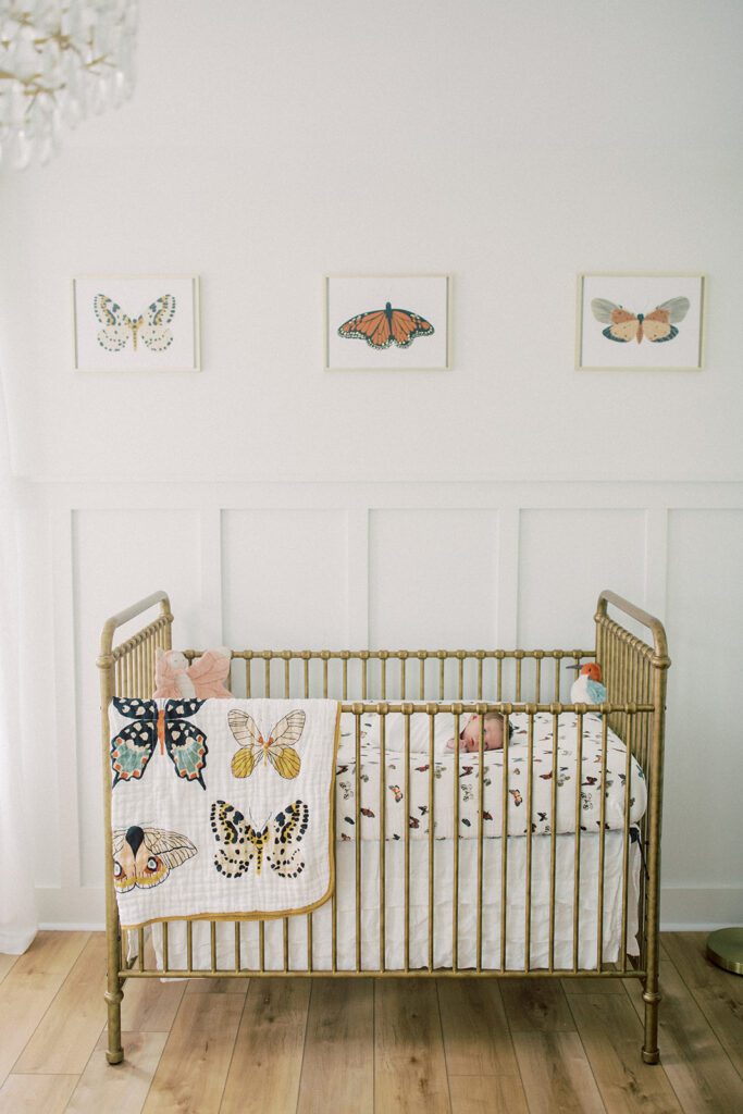
<path id="1" fill-rule="evenodd" d="M 672 510 L 668 555 L 666 830 L 694 822 L 664 877 L 743 886 L 743 511 Z"/>

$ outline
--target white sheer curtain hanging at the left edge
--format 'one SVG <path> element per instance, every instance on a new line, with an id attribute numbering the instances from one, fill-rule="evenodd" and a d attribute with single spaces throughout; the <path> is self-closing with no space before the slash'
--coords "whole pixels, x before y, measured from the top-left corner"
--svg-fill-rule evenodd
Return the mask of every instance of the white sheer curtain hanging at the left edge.
<path id="1" fill-rule="evenodd" d="M 23 807 L 18 538 L 8 414 L 0 378 L 0 951 L 26 951 L 37 915 Z"/>

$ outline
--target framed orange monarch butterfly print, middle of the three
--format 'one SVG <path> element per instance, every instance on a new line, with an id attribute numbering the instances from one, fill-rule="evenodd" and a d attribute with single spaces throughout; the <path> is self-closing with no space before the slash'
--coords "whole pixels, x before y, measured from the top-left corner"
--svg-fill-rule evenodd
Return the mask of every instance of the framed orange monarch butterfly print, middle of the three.
<path id="1" fill-rule="evenodd" d="M 326 275 L 326 371 L 447 371 L 449 275 Z"/>

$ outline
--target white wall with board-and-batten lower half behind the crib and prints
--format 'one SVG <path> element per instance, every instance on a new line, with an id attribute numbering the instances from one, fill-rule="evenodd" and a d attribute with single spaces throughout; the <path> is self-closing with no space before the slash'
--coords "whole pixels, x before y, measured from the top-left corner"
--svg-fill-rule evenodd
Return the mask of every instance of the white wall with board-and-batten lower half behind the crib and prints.
<path id="1" fill-rule="evenodd" d="M 609 586 L 674 657 L 664 919 L 736 919 L 743 8 L 141 8 L 134 99 L 0 172 L 42 916 L 99 919 L 96 641 L 136 596 L 202 644 L 566 646 Z M 322 371 L 322 275 L 380 271 L 453 276 L 451 372 Z M 580 271 L 705 273 L 706 369 L 575 371 Z M 72 275 L 192 272 L 202 374 L 72 371 Z"/>

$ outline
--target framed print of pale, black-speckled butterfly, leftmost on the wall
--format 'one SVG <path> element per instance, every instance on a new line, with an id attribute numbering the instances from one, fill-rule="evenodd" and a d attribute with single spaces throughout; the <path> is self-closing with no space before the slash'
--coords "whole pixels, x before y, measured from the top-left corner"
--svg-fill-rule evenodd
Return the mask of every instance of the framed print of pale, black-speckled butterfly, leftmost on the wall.
<path id="1" fill-rule="evenodd" d="M 199 371 L 196 275 L 72 280 L 77 371 Z"/>

